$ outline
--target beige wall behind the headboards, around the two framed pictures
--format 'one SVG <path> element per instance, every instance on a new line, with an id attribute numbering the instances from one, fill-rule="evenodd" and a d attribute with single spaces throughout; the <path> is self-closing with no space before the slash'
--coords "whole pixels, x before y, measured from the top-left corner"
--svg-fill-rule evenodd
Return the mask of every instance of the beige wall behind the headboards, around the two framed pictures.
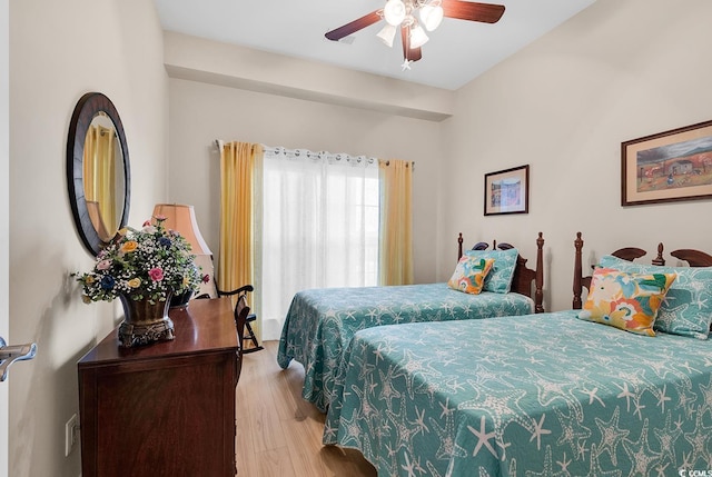
<path id="1" fill-rule="evenodd" d="M 462 230 L 468 244 L 512 241 L 533 261 L 543 231 L 548 309 L 571 308 L 576 231 L 586 260 L 624 246 L 652 259 L 660 241 L 710 249 L 710 200 L 620 206 L 622 141 L 712 119 L 712 2 L 674 3 L 597 0 L 457 92 L 439 244 Z M 484 217 L 484 173 L 525 163 L 530 213 Z"/>

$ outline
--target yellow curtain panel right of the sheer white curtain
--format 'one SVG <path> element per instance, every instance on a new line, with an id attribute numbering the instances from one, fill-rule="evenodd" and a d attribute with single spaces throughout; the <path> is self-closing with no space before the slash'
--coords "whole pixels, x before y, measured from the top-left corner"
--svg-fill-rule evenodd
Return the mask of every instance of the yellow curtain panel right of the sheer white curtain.
<path id="1" fill-rule="evenodd" d="M 413 162 L 379 161 L 378 285 L 413 284 Z"/>

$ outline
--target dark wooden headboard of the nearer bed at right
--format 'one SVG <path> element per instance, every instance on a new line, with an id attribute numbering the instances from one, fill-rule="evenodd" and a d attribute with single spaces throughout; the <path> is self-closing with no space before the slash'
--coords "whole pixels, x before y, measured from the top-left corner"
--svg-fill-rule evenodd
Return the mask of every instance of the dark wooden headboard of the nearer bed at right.
<path id="1" fill-rule="evenodd" d="M 580 310 L 582 307 L 581 295 L 583 292 L 583 288 L 591 289 L 591 276 L 583 276 L 583 260 L 582 260 L 582 250 L 583 250 L 583 239 L 581 238 L 581 232 L 576 232 L 576 239 L 574 240 L 574 248 L 576 249 L 576 255 L 574 258 L 574 286 L 573 286 L 573 308 L 575 310 Z M 646 255 L 646 251 L 641 248 L 635 247 L 625 247 L 620 248 L 612 252 L 611 255 L 621 258 L 623 260 L 633 261 L 636 258 L 641 258 Z M 704 251 L 694 250 L 694 249 L 679 249 L 671 251 L 670 255 L 673 257 L 686 261 L 690 267 L 712 267 L 712 255 L 705 254 Z M 657 245 L 657 256 L 651 260 L 653 265 L 665 265 L 665 259 L 663 258 L 663 245 L 662 242 Z"/>

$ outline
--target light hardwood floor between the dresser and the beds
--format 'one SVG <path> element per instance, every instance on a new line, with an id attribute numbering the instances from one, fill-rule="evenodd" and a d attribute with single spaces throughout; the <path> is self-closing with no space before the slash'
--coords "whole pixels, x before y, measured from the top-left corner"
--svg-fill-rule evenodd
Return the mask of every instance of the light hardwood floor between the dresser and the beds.
<path id="1" fill-rule="evenodd" d="M 374 477 L 357 450 L 322 445 L 325 416 L 301 398 L 304 367 L 277 365 L 277 341 L 244 355 L 237 384 L 237 471 L 249 477 Z"/>

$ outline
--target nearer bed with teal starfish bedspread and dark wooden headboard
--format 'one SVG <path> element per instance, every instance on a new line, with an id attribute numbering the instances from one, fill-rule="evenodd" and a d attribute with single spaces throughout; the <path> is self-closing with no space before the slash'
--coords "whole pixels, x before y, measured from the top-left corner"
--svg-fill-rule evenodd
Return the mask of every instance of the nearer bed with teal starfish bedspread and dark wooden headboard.
<path id="1" fill-rule="evenodd" d="M 581 287 L 590 280 L 581 276 L 580 235 L 575 247 Z M 695 250 L 671 255 L 704 266 L 705 277 L 712 266 L 712 256 Z M 683 279 L 700 301 L 712 298 L 711 284 Z M 324 444 L 360 450 L 379 476 L 712 468 L 712 340 L 640 336 L 580 312 L 358 331 L 344 354 Z"/>

